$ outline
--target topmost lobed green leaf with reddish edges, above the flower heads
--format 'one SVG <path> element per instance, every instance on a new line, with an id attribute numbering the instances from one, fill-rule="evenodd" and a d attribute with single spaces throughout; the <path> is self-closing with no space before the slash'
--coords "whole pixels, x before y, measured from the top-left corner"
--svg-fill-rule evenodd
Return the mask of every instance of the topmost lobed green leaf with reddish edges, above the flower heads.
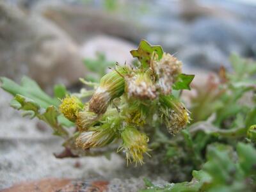
<path id="1" fill-rule="evenodd" d="M 143 67 L 150 66 L 153 52 L 156 52 L 159 60 L 161 60 L 164 53 L 160 45 L 150 45 L 146 40 L 141 40 L 138 49 L 130 52 L 134 58 L 138 58 Z"/>

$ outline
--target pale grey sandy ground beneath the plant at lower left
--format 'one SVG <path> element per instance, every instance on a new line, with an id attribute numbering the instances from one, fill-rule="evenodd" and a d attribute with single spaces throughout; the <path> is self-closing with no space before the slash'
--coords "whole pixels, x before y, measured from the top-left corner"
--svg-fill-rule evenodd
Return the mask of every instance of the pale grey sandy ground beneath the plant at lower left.
<path id="1" fill-rule="evenodd" d="M 163 183 L 164 175 L 168 178 L 147 164 L 127 167 L 125 159 L 117 154 L 111 154 L 110 160 L 103 156 L 56 159 L 53 153 L 61 151 L 60 138 L 52 136 L 44 123 L 22 118 L 19 111 L 10 108 L 11 95 L 1 89 L 0 95 L 0 189 L 55 177 L 108 180 L 109 191 L 137 191 L 144 187 L 143 177 L 156 183 Z"/>

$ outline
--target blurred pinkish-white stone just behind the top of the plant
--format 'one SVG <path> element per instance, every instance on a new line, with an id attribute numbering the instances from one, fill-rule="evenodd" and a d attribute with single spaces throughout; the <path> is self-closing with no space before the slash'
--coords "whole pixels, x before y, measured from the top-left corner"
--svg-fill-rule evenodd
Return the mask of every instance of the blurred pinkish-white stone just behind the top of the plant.
<path id="1" fill-rule="evenodd" d="M 84 42 L 81 45 L 81 57 L 82 58 L 96 58 L 97 52 L 102 52 L 106 56 L 107 61 L 118 62 L 124 64 L 131 63 L 133 58 L 130 51 L 136 49 L 136 45 L 131 44 L 120 38 L 114 38 L 111 36 L 100 35 L 95 36 L 91 40 Z"/>

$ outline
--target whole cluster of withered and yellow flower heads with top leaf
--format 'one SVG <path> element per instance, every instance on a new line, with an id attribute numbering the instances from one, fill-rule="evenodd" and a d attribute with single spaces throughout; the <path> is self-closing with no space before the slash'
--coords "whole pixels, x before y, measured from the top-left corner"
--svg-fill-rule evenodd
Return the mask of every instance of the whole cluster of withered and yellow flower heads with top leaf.
<path id="1" fill-rule="evenodd" d="M 188 109 L 172 95 L 182 63 L 159 47 L 141 46 L 132 51 L 140 65 L 117 65 L 100 79 L 89 102 L 81 106 L 75 97 L 63 100 L 61 113 L 79 131 L 77 147 L 86 150 L 121 140 L 118 151 L 125 152 L 127 162 L 142 164 L 155 130 L 150 127 L 163 123 L 177 134 L 189 123 Z"/>

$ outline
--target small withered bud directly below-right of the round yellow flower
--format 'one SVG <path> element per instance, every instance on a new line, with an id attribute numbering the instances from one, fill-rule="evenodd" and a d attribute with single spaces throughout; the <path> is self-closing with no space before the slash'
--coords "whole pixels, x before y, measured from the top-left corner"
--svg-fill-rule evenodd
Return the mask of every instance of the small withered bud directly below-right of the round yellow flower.
<path id="1" fill-rule="evenodd" d="M 77 113 L 77 128 L 79 131 L 87 131 L 97 120 L 99 120 L 100 115 L 89 110 L 89 104 L 84 105 L 84 110 Z"/>

